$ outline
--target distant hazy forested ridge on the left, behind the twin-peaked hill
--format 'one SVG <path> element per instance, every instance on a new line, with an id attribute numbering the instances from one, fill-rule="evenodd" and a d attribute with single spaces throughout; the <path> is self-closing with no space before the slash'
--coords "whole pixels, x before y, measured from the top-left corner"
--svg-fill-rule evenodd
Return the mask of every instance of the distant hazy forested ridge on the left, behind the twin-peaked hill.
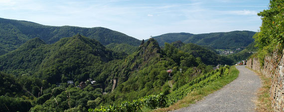
<path id="1" fill-rule="evenodd" d="M 29 21 L 0 18 L 0 55 L 18 48 L 35 37 L 51 44 L 60 38 L 71 37 L 78 33 L 96 39 L 103 45 L 125 43 L 138 46 L 141 43 L 134 37 L 103 27 L 46 26 Z"/>

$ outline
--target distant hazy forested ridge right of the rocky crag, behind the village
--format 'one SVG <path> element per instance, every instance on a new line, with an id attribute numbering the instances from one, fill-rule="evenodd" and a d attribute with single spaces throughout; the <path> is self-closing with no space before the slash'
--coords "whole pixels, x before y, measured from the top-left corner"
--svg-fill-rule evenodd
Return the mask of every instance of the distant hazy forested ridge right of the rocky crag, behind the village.
<path id="1" fill-rule="evenodd" d="M 214 49 L 235 49 L 246 47 L 254 41 L 253 31 L 231 31 L 218 33 L 167 33 L 153 37 L 163 46 L 164 42 L 171 43 L 181 40 L 183 43 L 195 43 L 197 45 L 206 45 Z"/>

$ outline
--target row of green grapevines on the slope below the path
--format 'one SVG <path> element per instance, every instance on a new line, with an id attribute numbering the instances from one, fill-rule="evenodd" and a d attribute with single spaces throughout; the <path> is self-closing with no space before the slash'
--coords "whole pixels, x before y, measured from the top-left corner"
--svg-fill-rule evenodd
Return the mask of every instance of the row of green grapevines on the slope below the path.
<path id="1" fill-rule="evenodd" d="M 178 88 L 168 95 L 160 93 L 159 95 L 150 95 L 143 97 L 133 102 L 123 102 L 121 105 L 101 107 L 100 109 L 89 109 L 89 112 L 141 112 L 143 107 L 150 109 L 168 107 L 178 100 L 183 99 L 188 93 L 194 91 L 197 88 L 202 88 L 210 82 L 217 81 L 218 79 L 227 76 L 229 74 L 229 66 L 221 67 L 210 73 L 202 75 L 188 84 Z"/>

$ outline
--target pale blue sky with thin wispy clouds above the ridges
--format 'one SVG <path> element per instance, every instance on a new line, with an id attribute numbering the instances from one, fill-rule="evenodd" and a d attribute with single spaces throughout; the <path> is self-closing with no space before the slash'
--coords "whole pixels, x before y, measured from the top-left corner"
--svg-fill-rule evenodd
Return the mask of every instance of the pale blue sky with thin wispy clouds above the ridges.
<path id="1" fill-rule="evenodd" d="M 257 13 L 268 5 L 269 0 L 0 0 L 0 17 L 106 27 L 142 40 L 173 32 L 258 31 Z"/>

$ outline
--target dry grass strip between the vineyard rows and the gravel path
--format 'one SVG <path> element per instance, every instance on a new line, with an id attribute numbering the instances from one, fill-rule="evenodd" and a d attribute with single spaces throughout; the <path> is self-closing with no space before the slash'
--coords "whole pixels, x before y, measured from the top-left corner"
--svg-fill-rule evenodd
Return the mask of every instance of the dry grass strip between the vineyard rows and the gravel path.
<path id="1" fill-rule="evenodd" d="M 168 108 L 162 108 L 153 110 L 153 112 L 167 112 L 172 111 L 184 107 L 188 107 L 191 104 L 195 104 L 197 101 L 202 100 L 203 97 L 220 90 L 225 85 L 229 84 L 230 82 L 234 81 L 239 76 L 239 71 L 235 66 L 232 66 L 230 68 L 230 72 L 228 76 L 225 76 L 215 82 L 209 83 L 207 86 L 203 88 L 198 88 L 191 93 L 189 93 L 186 97 L 184 97 L 182 100 L 178 101 L 177 103 L 171 105 Z"/>

